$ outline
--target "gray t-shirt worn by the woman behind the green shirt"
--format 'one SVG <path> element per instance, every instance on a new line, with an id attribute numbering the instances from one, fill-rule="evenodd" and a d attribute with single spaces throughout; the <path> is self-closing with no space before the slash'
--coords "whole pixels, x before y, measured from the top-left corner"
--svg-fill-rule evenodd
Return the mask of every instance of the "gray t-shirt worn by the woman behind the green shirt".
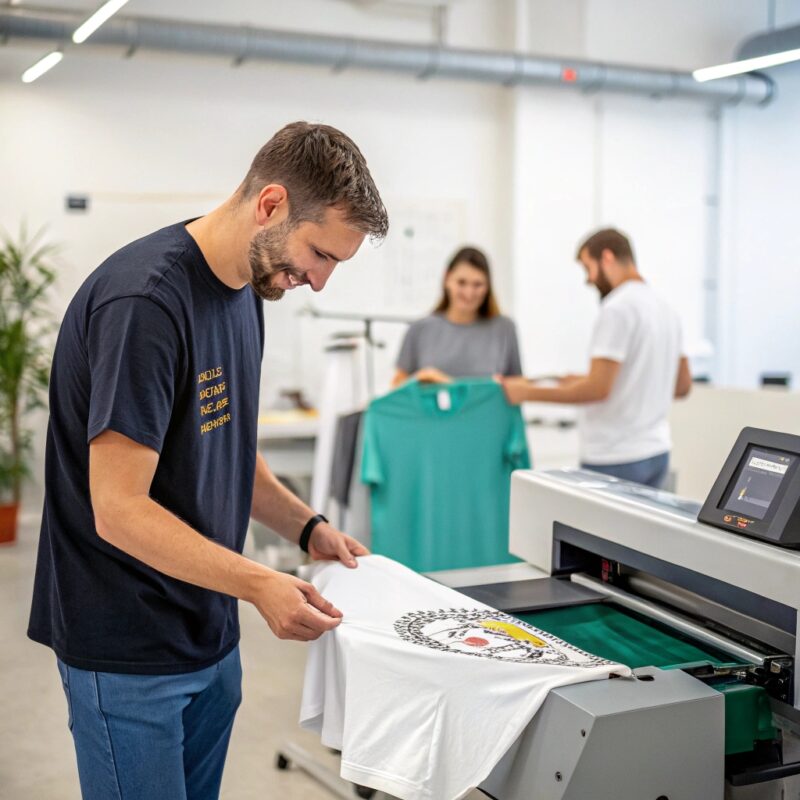
<path id="1" fill-rule="evenodd" d="M 458 325 L 438 313 L 417 320 L 406 332 L 397 368 L 411 374 L 424 367 L 457 378 L 521 375 L 514 323 L 497 316 Z"/>

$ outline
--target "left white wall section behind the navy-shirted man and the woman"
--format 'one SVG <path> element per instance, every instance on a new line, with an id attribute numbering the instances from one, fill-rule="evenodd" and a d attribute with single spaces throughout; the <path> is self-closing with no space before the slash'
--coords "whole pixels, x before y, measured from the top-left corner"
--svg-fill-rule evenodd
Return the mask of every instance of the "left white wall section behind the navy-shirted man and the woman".
<path id="1" fill-rule="evenodd" d="M 134 0 L 131 13 L 166 4 Z M 384 16 L 345 3 L 239 2 L 197 8 L 252 24 L 374 36 L 431 38 L 429 14 Z M 502 5 L 502 4 L 501 4 Z M 496 8 L 456 6 L 450 37 L 480 36 L 504 47 Z M 330 23 L 330 24 L 328 24 Z M 366 245 L 339 267 L 319 296 L 300 290 L 269 306 L 264 369 L 266 404 L 280 388 L 302 386 L 316 399 L 325 324 L 297 311 L 309 300 L 325 310 L 419 314 L 436 300 L 441 271 L 454 248 L 485 247 L 497 270 L 501 300 L 510 296 L 510 248 L 503 192 L 509 168 L 508 101 L 499 87 L 420 82 L 369 72 L 332 74 L 303 66 L 254 63 L 238 69 L 220 59 L 139 54 L 125 60 L 70 51 L 35 84 L 18 75 L 42 47 L 0 52 L 0 224 L 16 230 L 47 223 L 64 244 L 60 305 L 86 275 L 130 238 L 199 215 L 230 193 L 258 147 L 282 124 L 311 119 L 337 125 L 364 151 L 388 207 L 392 231 L 382 247 Z M 64 210 L 69 192 L 91 197 L 88 214 Z M 412 276 L 410 285 L 398 281 Z M 358 326 L 345 324 L 346 330 Z M 388 383 L 402 327 L 378 331 L 379 381 Z"/>

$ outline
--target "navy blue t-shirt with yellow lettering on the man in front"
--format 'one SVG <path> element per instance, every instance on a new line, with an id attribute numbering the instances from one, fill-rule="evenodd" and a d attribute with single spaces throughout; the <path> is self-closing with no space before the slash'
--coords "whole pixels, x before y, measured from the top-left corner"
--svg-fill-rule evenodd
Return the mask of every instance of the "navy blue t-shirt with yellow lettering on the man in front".
<path id="1" fill-rule="evenodd" d="M 53 358 L 28 628 L 70 666 L 191 672 L 239 641 L 233 597 L 170 578 L 100 538 L 89 442 L 113 430 L 156 450 L 153 500 L 241 552 L 263 344 L 261 300 L 250 286 L 223 284 L 184 223 L 116 252 L 70 303 Z"/>

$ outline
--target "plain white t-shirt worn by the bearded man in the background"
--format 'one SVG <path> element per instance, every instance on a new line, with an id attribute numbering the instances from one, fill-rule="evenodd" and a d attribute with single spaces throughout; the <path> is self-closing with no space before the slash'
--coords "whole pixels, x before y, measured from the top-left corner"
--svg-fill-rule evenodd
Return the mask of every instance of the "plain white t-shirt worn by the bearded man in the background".
<path id="1" fill-rule="evenodd" d="M 609 396 L 583 407 L 581 461 L 624 464 L 669 452 L 669 413 L 682 355 L 678 315 L 642 281 L 607 295 L 590 358 L 620 362 Z"/>

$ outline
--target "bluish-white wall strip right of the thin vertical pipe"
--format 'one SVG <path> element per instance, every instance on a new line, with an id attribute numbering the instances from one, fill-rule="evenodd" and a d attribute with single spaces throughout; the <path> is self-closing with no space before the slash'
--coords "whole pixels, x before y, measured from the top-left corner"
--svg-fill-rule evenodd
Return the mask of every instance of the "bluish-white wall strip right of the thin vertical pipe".
<path id="1" fill-rule="evenodd" d="M 800 386 L 800 65 L 774 70 L 767 108 L 725 118 L 721 375 L 755 387 L 762 372 Z"/>

